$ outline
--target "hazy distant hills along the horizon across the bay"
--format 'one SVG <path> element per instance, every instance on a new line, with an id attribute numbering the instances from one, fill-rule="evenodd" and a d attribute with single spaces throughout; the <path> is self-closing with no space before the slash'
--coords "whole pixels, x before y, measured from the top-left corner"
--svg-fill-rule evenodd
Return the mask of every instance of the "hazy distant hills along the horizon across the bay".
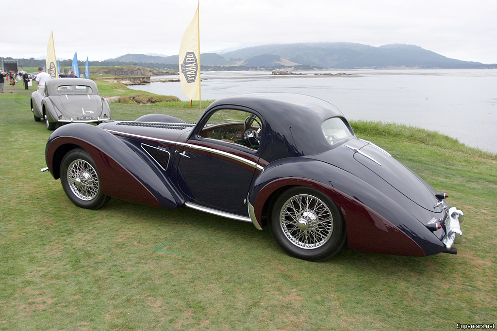
<path id="1" fill-rule="evenodd" d="M 126 54 L 104 62 L 177 65 L 178 56 Z M 311 66 L 355 69 L 386 67 L 486 68 L 479 62 L 449 59 L 419 46 L 391 44 L 380 47 L 356 43 L 299 43 L 248 47 L 224 54 L 203 53 L 202 66 L 282 67 Z"/>

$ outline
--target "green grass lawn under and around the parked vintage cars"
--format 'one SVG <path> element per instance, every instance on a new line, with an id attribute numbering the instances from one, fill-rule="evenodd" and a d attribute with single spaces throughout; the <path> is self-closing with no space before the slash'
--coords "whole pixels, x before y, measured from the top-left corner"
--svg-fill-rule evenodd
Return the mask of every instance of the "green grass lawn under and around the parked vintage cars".
<path id="1" fill-rule="evenodd" d="M 134 94 L 98 82 L 102 95 Z M 114 88 L 116 87 L 116 88 Z M 354 122 L 465 214 L 458 255 L 285 255 L 267 229 L 111 199 L 76 207 L 45 167 L 21 84 L 0 94 L 0 330 L 457 330 L 497 323 L 497 157 L 446 136 Z M 140 92 L 142 93 L 142 92 Z M 205 108 L 209 102 L 203 101 Z M 111 104 L 196 121 L 198 103 Z M 346 110 L 343 110 L 346 112 Z"/>

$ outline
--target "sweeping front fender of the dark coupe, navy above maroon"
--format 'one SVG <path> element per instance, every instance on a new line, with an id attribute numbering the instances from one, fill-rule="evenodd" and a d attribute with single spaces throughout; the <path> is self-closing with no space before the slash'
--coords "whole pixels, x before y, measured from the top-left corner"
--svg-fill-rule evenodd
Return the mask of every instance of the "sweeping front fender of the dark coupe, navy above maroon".
<path id="1" fill-rule="evenodd" d="M 79 146 L 91 155 L 101 178 L 102 192 L 110 197 L 166 209 L 184 203 L 169 179 L 152 169 L 155 164 L 147 163 L 111 133 L 88 124 L 68 124 L 50 136 L 45 155 L 55 179 L 59 178 L 67 146 Z"/>

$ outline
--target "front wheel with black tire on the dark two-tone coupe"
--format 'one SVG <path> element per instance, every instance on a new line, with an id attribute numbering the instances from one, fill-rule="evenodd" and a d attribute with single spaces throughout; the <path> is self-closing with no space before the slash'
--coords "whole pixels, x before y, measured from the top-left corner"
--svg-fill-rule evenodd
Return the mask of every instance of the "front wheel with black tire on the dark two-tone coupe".
<path id="1" fill-rule="evenodd" d="M 84 149 L 73 149 L 64 156 L 60 178 L 64 192 L 79 207 L 99 209 L 110 200 L 102 193 L 95 162 Z"/>

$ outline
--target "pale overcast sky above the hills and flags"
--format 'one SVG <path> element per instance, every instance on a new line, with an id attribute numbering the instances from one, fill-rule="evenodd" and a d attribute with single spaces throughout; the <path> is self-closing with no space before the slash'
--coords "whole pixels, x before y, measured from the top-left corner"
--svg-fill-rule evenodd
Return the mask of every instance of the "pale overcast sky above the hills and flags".
<path id="1" fill-rule="evenodd" d="M 178 54 L 197 0 L 2 1 L 0 56 L 90 61 Z M 200 0 L 200 51 L 265 44 L 402 43 L 497 63 L 497 0 Z"/>

